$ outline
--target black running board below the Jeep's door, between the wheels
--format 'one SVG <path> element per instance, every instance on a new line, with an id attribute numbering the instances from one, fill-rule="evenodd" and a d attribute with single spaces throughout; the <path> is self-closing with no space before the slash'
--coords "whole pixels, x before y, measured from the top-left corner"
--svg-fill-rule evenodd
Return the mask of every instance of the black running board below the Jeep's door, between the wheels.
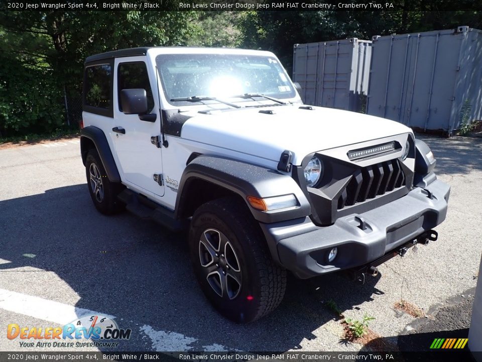
<path id="1" fill-rule="evenodd" d="M 129 189 L 124 189 L 117 198 L 126 204 L 126 209 L 141 219 L 153 220 L 170 231 L 179 232 L 189 225 L 187 220 L 177 220 L 174 212 L 139 195 Z"/>

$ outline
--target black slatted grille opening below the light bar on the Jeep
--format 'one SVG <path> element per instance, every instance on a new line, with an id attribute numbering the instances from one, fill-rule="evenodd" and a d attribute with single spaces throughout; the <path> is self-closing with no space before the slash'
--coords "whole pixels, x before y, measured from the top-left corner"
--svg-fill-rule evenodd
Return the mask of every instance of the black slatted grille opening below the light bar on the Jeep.
<path id="1" fill-rule="evenodd" d="M 405 175 L 398 159 L 358 168 L 338 199 L 338 210 L 374 199 L 405 185 Z"/>

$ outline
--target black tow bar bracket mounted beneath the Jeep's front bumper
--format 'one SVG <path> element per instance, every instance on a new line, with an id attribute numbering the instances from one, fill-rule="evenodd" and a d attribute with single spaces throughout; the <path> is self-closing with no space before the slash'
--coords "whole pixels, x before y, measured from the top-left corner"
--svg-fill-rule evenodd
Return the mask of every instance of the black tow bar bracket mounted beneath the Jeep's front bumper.
<path id="1" fill-rule="evenodd" d="M 350 279 L 361 282 L 362 284 L 365 284 L 365 279 L 366 276 L 372 276 L 376 277 L 378 275 L 378 269 L 377 266 L 380 264 L 383 264 L 387 260 L 390 260 L 391 258 L 400 255 L 404 256 L 407 253 L 407 250 L 410 249 L 412 246 L 421 243 L 423 245 L 427 245 L 430 241 L 435 241 L 438 239 L 438 233 L 435 230 L 428 230 L 419 236 L 417 236 L 415 239 L 403 244 L 400 247 L 397 247 L 388 253 L 386 253 L 384 256 L 373 260 L 372 262 L 369 262 L 368 264 L 358 266 L 352 269 L 348 269 L 347 272 L 350 275 Z"/>

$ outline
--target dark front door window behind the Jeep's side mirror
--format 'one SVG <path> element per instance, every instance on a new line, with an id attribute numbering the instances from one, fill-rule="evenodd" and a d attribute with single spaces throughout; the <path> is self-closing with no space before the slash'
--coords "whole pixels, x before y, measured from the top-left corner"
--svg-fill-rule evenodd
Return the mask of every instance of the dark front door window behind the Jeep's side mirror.
<path id="1" fill-rule="evenodd" d="M 122 89 L 142 88 L 147 93 L 148 113 L 154 108 L 154 98 L 152 96 L 151 84 L 147 73 L 146 63 L 132 62 L 121 63 L 117 69 L 117 94 L 119 97 L 119 110 L 122 111 L 121 91 Z"/>

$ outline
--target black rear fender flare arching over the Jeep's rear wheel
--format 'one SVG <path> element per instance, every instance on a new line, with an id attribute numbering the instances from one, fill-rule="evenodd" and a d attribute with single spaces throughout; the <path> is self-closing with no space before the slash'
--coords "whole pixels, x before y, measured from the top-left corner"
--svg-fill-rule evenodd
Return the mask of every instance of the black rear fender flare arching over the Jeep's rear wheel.
<path id="1" fill-rule="evenodd" d="M 121 175 L 119 174 L 117 165 L 115 164 L 112 151 L 110 150 L 110 146 L 107 142 L 104 132 L 100 128 L 94 126 L 87 126 L 82 128 L 80 131 L 80 153 L 82 155 L 82 162 L 84 165 L 87 152 L 89 151 L 87 142 L 85 142 L 85 140 L 82 141 L 82 139 L 85 138 L 91 140 L 97 149 L 97 153 L 99 154 L 109 181 L 113 183 L 120 183 Z"/>

